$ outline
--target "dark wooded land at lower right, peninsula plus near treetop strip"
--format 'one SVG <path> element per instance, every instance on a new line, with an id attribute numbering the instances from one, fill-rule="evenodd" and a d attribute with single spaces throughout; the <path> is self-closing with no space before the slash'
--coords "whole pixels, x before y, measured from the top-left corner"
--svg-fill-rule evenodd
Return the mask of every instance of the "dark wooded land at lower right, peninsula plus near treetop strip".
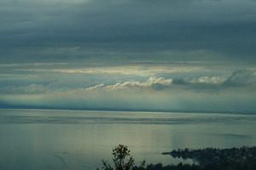
<path id="1" fill-rule="evenodd" d="M 188 170 L 255 170 L 256 169 L 256 147 L 216 149 L 206 148 L 200 150 L 172 150 L 164 152 L 163 155 L 171 155 L 183 159 L 194 159 L 198 164 L 149 165 L 146 169 L 188 169 Z"/>

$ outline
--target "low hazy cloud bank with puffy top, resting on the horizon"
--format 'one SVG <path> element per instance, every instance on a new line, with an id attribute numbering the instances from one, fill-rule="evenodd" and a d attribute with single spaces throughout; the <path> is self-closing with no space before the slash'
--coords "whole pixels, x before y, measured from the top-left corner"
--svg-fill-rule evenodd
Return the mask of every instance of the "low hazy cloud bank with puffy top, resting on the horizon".
<path id="1" fill-rule="evenodd" d="M 88 88 L 50 89 L 50 86 L 2 88 L 1 105 L 21 108 L 122 111 L 206 111 L 254 113 L 254 71 L 235 71 L 230 77 L 126 81 Z"/>

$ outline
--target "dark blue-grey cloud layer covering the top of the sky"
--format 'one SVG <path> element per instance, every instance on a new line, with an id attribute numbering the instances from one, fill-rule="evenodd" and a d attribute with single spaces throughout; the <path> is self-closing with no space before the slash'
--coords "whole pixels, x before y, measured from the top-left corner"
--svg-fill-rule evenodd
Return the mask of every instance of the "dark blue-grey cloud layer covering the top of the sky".
<path id="1" fill-rule="evenodd" d="M 201 49 L 217 53 L 211 60 L 254 60 L 255 7 L 249 0 L 3 1 L 1 61 L 148 59 L 144 52 Z"/>

